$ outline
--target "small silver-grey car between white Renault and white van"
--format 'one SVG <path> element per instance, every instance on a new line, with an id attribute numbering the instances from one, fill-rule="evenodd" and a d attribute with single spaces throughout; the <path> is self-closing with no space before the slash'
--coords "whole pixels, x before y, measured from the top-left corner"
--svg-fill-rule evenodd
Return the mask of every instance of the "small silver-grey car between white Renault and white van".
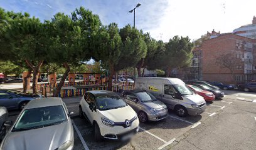
<path id="1" fill-rule="evenodd" d="M 139 121 L 159 121 L 168 116 L 168 109 L 164 103 L 158 101 L 152 94 L 139 89 L 121 93 L 126 103 L 138 114 Z"/>

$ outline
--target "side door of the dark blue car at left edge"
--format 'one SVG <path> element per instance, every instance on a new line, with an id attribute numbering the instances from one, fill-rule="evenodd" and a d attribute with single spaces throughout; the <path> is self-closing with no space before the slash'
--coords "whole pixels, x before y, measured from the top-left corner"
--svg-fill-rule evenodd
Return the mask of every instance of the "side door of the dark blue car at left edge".
<path id="1" fill-rule="evenodd" d="M 0 106 L 4 106 L 8 109 L 18 108 L 19 96 L 9 93 L 0 93 Z"/>

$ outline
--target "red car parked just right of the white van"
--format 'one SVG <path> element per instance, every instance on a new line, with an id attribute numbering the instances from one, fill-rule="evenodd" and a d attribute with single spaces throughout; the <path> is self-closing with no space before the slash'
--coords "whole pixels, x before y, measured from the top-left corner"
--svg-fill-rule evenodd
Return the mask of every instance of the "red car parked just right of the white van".
<path id="1" fill-rule="evenodd" d="M 192 91 L 194 91 L 196 94 L 203 96 L 205 101 L 213 101 L 215 99 L 215 95 L 209 91 L 205 91 L 203 89 L 198 88 L 197 86 L 193 85 L 187 85 Z"/>

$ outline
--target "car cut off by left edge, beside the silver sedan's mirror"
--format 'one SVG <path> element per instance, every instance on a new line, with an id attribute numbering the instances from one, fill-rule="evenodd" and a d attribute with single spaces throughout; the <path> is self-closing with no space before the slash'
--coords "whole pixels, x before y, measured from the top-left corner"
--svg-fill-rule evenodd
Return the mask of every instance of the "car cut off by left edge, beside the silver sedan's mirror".
<path id="1" fill-rule="evenodd" d="M 6 134 L 6 126 L 4 123 L 7 121 L 8 118 L 8 111 L 4 107 L 0 107 L 0 143 L 4 139 Z"/>

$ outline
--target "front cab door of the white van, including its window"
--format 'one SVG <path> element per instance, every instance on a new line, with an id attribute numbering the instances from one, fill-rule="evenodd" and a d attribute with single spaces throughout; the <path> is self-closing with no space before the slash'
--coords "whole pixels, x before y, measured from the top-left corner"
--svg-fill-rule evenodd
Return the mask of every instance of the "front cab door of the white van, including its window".
<path id="1" fill-rule="evenodd" d="M 174 109 L 174 106 L 179 103 L 179 99 L 174 98 L 174 94 L 178 93 L 173 85 L 164 84 L 162 101 L 169 109 Z"/>

